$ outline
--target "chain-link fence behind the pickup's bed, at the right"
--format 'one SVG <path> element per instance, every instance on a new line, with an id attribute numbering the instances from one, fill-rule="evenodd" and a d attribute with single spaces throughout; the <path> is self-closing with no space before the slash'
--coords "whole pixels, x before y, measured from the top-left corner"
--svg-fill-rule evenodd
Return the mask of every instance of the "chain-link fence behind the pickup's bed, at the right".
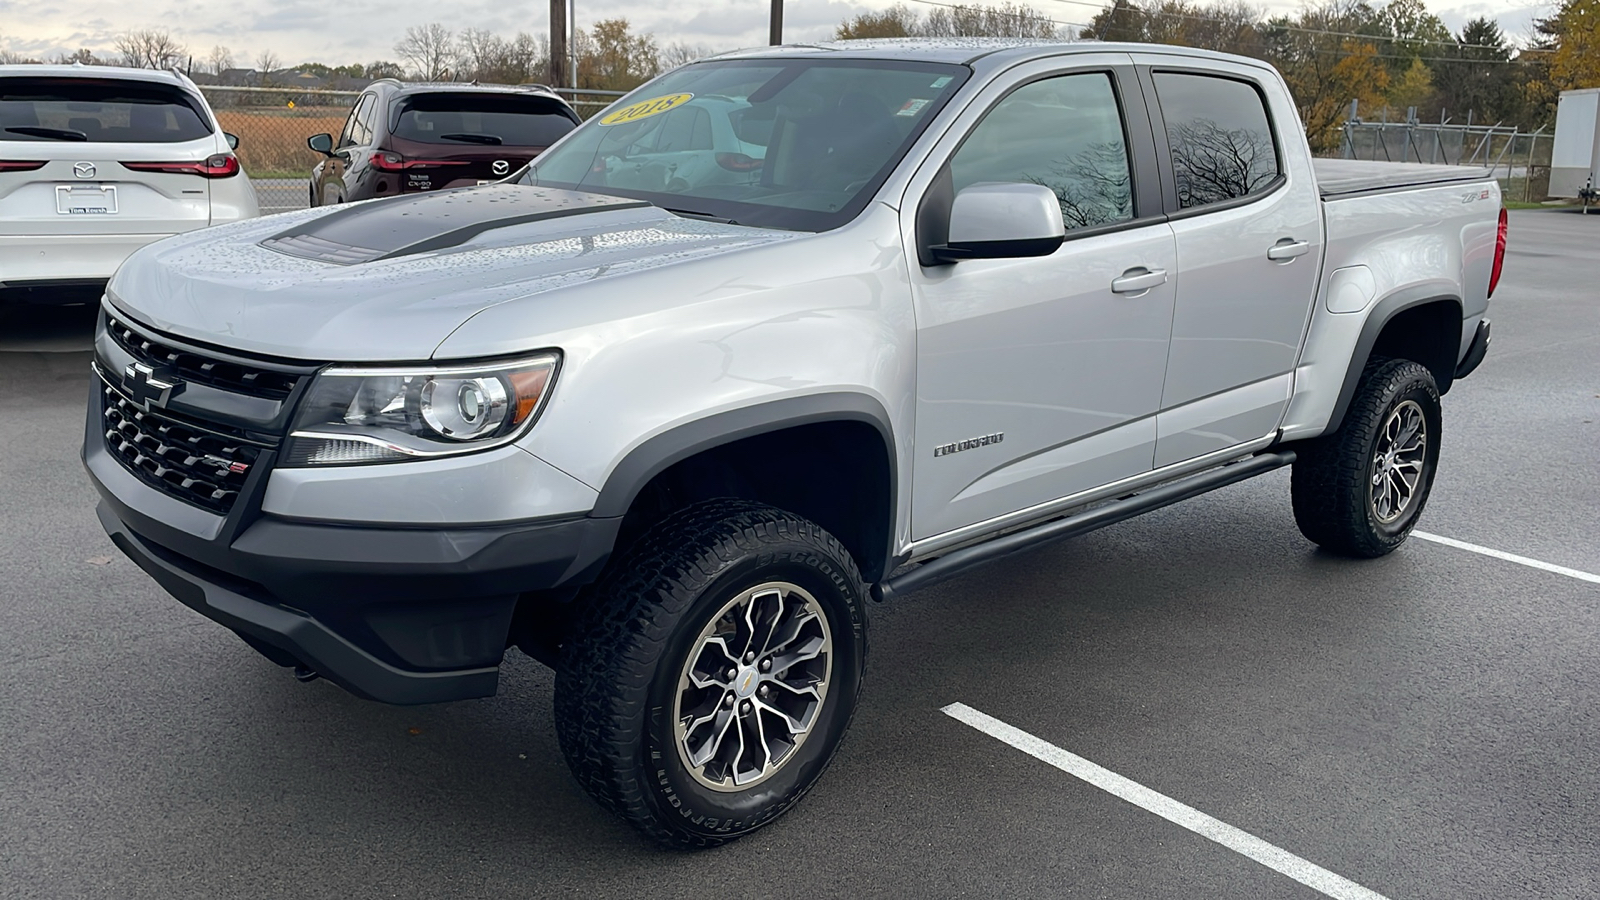
<path id="1" fill-rule="evenodd" d="M 1470 117 L 1469 120 L 1470 122 Z M 1453 125 L 1450 122 L 1344 123 L 1336 155 L 1354 160 L 1474 165 L 1494 170 L 1509 200 L 1544 200 L 1550 186 L 1554 135 L 1515 125 Z"/>

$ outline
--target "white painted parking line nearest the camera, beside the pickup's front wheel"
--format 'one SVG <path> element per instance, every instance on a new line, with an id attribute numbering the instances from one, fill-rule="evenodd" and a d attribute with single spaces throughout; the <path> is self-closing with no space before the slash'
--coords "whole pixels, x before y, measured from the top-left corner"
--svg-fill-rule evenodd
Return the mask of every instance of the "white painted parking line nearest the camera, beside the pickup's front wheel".
<path id="1" fill-rule="evenodd" d="M 1210 815 L 1184 806 L 1166 794 L 1152 791 L 1138 781 L 1123 778 L 1109 769 L 1096 765 L 1074 753 L 1067 753 L 1059 746 L 1037 738 L 1022 729 L 1008 725 L 994 716 L 979 713 L 965 703 L 950 703 L 942 709 L 942 713 L 1002 743 L 1008 743 L 1021 749 L 1034 759 L 1048 762 L 1067 775 L 1082 778 L 1112 796 L 1122 798 L 1133 806 L 1160 815 L 1166 822 L 1181 825 L 1202 838 L 1210 838 L 1211 841 L 1222 844 L 1235 854 L 1242 854 L 1274 871 L 1283 873 L 1312 890 L 1318 890 L 1328 897 L 1334 897 L 1336 900 L 1387 900 L 1382 894 L 1368 890 L 1347 878 L 1333 874 L 1331 871 L 1309 863 L 1288 850 L 1267 844 L 1248 831 L 1240 831 L 1226 822 L 1211 818 Z"/>

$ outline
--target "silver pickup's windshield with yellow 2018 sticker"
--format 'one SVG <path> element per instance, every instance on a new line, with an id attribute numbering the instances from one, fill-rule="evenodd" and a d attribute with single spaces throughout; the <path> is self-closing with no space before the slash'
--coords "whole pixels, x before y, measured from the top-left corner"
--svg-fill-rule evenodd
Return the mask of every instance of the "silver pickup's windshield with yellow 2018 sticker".
<path id="1" fill-rule="evenodd" d="M 826 231 L 867 205 L 966 74 L 867 59 L 698 62 L 586 122 L 522 183 Z"/>

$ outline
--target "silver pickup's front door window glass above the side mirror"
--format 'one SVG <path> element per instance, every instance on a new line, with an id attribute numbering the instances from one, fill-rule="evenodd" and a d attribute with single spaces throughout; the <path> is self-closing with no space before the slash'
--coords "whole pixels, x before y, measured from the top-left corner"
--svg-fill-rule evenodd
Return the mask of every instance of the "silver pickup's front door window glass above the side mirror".
<path id="1" fill-rule="evenodd" d="M 950 159 L 955 191 L 981 181 L 1043 184 L 1067 231 L 1133 218 L 1122 112 L 1106 72 L 1058 75 L 1006 94 Z"/>

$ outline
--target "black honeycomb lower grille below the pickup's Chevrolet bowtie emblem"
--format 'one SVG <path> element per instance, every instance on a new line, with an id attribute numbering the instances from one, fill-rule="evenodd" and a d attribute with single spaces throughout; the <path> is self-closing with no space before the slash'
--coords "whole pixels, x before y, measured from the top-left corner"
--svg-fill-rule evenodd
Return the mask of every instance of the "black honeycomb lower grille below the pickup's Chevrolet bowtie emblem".
<path id="1" fill-rule="evenodd" d="M 261 447 L 141 410 L 101 384 L 106 448 L 144 484 L 211 512 L 238 500 Z"/>

